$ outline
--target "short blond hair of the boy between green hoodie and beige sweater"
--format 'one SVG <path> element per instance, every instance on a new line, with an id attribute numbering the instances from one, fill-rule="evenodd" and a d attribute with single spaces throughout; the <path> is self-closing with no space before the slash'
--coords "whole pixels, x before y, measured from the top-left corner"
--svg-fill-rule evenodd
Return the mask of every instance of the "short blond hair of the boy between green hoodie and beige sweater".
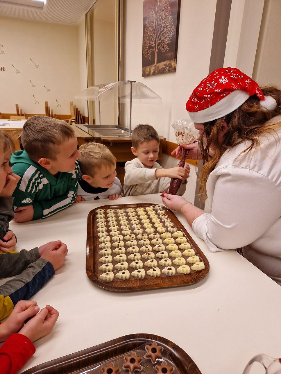
<path id="1" fill-rule="evenodd" d="M 103 166 L 116 165 L 116 157 L 103 144 L 86 143 L 79 147 L 81 157 L 79 158 L 80 172 L 94 177 L 94 173 Z"/>

